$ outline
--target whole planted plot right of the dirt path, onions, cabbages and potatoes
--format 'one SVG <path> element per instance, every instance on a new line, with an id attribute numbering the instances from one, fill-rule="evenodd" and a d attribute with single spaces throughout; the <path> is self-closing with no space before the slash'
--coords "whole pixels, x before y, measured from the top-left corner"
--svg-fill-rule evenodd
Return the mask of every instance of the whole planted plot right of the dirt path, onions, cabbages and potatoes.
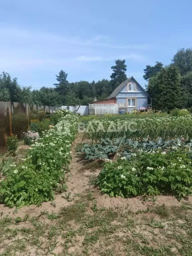
<path id="1" fill-rule="evenodd" d="M 96 178 L 103 193 L 171 194 L 179 200 L 192 194 L 191 115 L 96 119 L 85 125 L 92 144 L 78 151 L 85 159 L 104 160 Z"/>

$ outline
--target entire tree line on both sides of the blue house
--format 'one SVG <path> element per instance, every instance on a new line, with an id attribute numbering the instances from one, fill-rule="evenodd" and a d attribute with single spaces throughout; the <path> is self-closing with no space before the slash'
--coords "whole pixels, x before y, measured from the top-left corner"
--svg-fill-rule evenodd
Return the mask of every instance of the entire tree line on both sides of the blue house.
<path id="1" fill-rule="evenodd" d="M 24 102 L 47 106 L 87 105 L 96 97 L 106 99 L 111 92 L 127 79 L 125 60 L 115 60 L 111 67 L 111 80 L 97 82 L 68 82 L 63 70 L 56 75 L 54 88 L 42 87 L 31 90 L 21 87 L 17 78 L 11 79 L 8 73 L 0 75 L 0 101 Z M 143 78 L 148 82 L 146 90 L 152 98 L 152 107 L 168 111 L 173 108 L 192 107 L 192 48 L 179 49 L 169 65 L 156 61 L 154 66 L 147 65 Z"/>

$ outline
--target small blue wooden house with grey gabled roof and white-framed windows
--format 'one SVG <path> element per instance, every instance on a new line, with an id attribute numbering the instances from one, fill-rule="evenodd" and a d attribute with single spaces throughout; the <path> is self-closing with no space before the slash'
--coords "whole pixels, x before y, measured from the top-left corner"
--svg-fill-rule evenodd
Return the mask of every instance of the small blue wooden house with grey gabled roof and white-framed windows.
<path id="1" fill-rule="evenodd" d="M 117 103 L 125 103 L 128 111 L 148 106 L 149 94 L 133 76 L 123 81 L 107 99 L 116 97 Z"/>

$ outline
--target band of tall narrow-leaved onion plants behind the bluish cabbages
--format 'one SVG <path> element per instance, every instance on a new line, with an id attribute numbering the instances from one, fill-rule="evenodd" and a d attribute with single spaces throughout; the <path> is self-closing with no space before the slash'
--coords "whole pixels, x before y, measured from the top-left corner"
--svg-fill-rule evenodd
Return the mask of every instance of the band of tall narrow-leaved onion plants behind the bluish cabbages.
<path id="1" fill-rule="evenodd" d="M 85 123 L 86 134 L 92 142 L 101 142 L 103 139 L 127 138 L 138 141 L 144 139 L 171 140 L 192 138 L 192 115 L 186 116 L 153 116 L 145 118 L 124 118 L 110 120 L 101 118 Z"/>

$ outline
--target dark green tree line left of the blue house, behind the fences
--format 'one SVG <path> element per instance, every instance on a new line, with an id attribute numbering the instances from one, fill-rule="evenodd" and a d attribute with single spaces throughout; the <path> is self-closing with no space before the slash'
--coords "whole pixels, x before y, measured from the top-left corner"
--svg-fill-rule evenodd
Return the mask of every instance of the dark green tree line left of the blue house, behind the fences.
<path id="1" fill-rule="evenodd" d="M 68 82 L 67 73 L 63 70 L 56 75 L 57 83 L 54 88 L 42 87 L 39 90 L 31 90 L 31 87 L 21 87 L 17 78 L 11 79 L 8 73 L 0 75 L 0 101 L 14 101 L 46 106 L 74 106 L 87 105 L 96 97 L 97 100 L 107 98 L 110 93 L 124 80 L 125 60 L 115 60 L 111 67 L 113 73 L 111 80 L 102 79 L 97 82 L 79 81 Z"/>

